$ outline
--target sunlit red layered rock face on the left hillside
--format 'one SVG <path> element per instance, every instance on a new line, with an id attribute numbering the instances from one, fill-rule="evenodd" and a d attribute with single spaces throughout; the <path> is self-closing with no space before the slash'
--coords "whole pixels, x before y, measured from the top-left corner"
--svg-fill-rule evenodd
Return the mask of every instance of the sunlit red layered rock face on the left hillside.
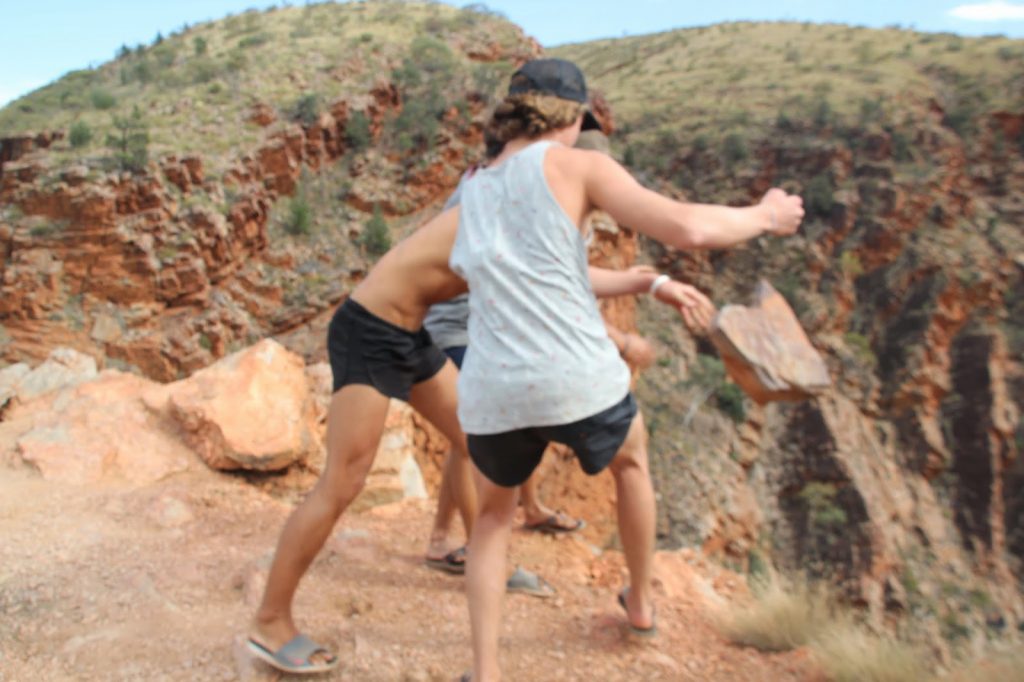
<path id="1" fill-rule="evenodd" d="M 511 60 L 538 49 L 523 38 L 470 56 Z M 305 293 L 292 272 L 295 255 L 270 244 L 271 209 L 296 194 L 304 174 L 343 157 L 344 201 L 355 211 L 406 215 L 442 200 L 482 148 L 483 101 L 468 93 L 465 111 L 443 117 L 436 134 L 443 153 L 429 164 L 373 148 L 406 104 L 387 80 L 334 101 L 309 123 L 275 124 L 273 108 L 256 102 L 251 121 L 264 126 L 261 143 L 236 151 L 216 173 L 198 155 L 167 156 L 140 173 L 57 168 L 47 150 L 60 132 L 0 140 L 0 357 L 39 361 L 55 347 L 73 347 L 101 365 L 169 381 L 333 307 L 366 263 L 346 265 L 335 254 L 341 269 L 332 279 L 340 281 Z M 356 114 L 371 148 L 349 154 L 346 130 Z M 290 296 L 268 271 L 291 273 L 297 293 Z"/>

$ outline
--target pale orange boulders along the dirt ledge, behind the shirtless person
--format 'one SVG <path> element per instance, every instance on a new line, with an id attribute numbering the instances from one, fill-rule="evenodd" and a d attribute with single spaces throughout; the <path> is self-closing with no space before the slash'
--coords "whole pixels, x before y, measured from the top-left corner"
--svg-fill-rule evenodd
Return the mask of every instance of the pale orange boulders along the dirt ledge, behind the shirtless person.
<path id="1" fill-rule="evenodd" d="M 0 463 L 30 466 L 47 480 L 145 485 L 204 465 L 290 469 L 266 479 L 273 492 L 308 487 L 324 470 L 331 370 L 306 367 L 266 340 L 158 384 L 117 370 L 97 374 L 93 358 L 60 348 L 36 368 L 0 371 Z M 393 401 L 355 510 L 426 497 L 424 434 L 409 406 Z"/>

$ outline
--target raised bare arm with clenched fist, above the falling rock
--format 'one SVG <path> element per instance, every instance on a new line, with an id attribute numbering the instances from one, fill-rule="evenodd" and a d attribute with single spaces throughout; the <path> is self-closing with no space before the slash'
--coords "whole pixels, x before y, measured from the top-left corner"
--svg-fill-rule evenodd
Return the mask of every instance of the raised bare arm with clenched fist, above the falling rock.
<path id="1" fill-rule="evenodd" d="M 760 235 L 792 235 L 804 217 L 803 200 L 769 189 L 760 203 L 736 208 L 677 202 L 640 185 L 610 157 L 573 150 L 590 202 L 616 222 L 681 249 L 719 249 Z"/>

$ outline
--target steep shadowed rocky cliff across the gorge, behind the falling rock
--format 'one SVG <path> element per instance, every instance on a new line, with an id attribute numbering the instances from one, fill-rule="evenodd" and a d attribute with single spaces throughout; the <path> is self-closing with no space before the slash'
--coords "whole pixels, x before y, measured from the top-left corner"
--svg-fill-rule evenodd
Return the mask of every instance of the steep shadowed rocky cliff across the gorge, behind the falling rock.
<path id="1" fill-rule="evenodd" d="M 990 117 L 965 142 L 941 112 L 920 114 L 916 161 L 868 128 L 849 146 L 814 134 L 765 144 L 750 184 L 708 169 L 709 184 L 752 200 L 783 168 L 828 178 L 801 237 L 712 256 L 652 250 L 720 299 L 744 296 L 755 274 L 774 282 L 835 382 L 803 403 L 749 404 L 735 427 L 676 431 L 707 452 L 663 485 L 664 523 L 739 563 L 836 579 L 880 619 L 937 614 L 947 640 L 980 646 L 1024 620 L 1024 162 L 998 142 L 1021 117 Z M 695 487 L 713 481 L 727 489 Z"/>

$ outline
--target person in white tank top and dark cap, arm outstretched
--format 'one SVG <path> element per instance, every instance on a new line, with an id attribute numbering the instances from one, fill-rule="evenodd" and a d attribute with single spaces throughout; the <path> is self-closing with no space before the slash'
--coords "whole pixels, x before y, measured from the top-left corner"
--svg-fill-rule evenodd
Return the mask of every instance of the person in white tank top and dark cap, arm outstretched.
<path id="1" fill-rule="evenodd" d="M 800 198 L 780 189 L 755 206 L 730 208 L 682 204 L 643 188 L 610 157 L 571 148 L 581 129 L 594 125 L 586 102 L 583 74 L 571 62 L 524 65 L 485 130 L 488 145 L 503 152 L 462 193 L 450 266 L 472 292 L 472 350 L 459 376 L 459 419 L 477 468 L 480 508 L 466 571 L 473 673 L 463 679 L 473 682 L 501 676 L 500 612 L 515 486 L 550 441 L 572 447 L 587 473 L 608 468 L 614 476 L 630 571 L 618 601 L 633 633 L 655 633 L 654 494 L 645 430 L 588 278 L 584 217 L 602 209 L 620 224 L 693 249 L 792 235 L 804 213 Z M 650 274 L 622 293 L 679 285 L 666 280 Z M 678 300 L 693 322 L 701 302 L 685 292 Z"/>

